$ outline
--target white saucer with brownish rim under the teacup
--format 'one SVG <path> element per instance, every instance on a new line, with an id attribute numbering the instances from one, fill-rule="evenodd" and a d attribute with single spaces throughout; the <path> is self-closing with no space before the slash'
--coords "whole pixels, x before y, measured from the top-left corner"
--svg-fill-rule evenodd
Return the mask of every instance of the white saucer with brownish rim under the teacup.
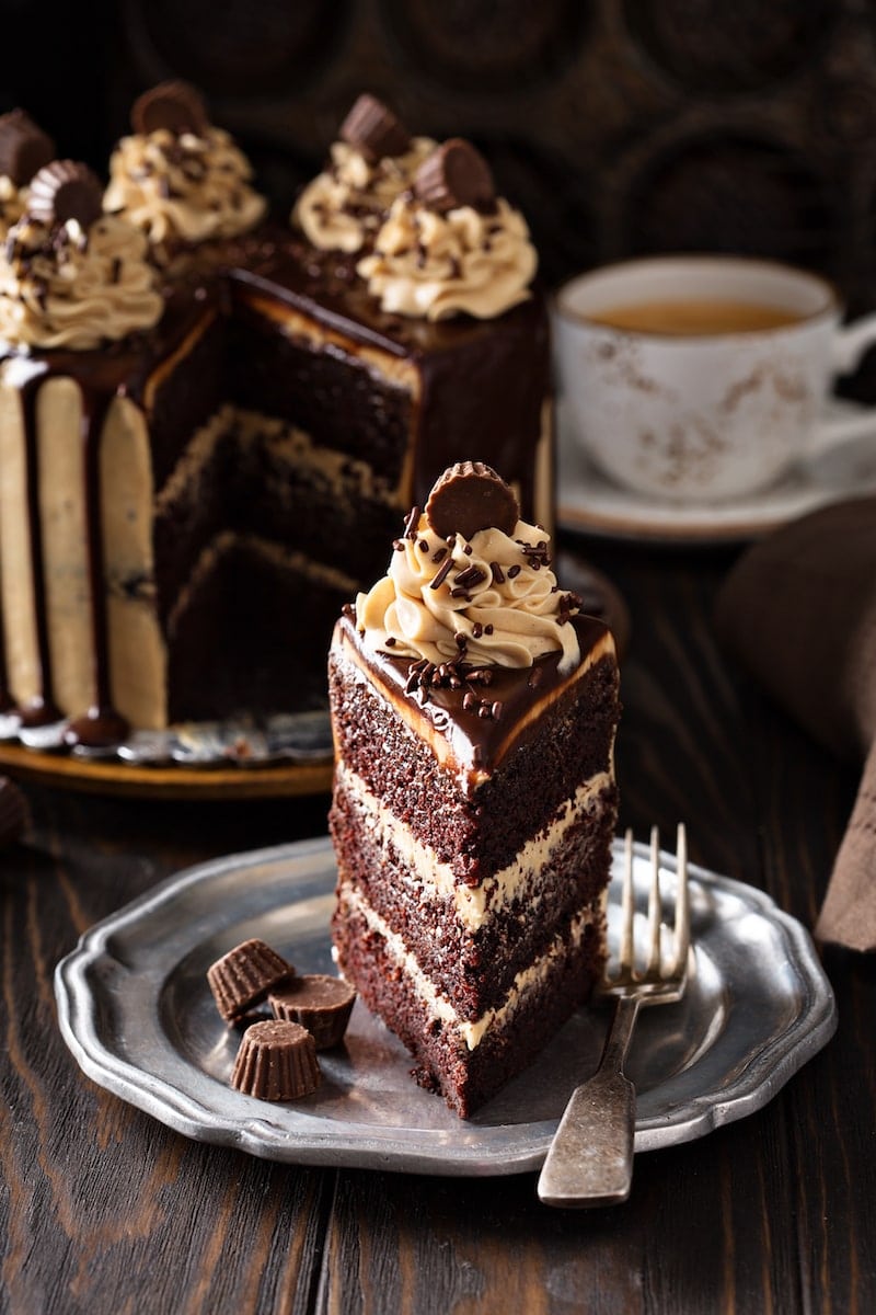
<path id="1" fill-rule="evenodd" d="M 835 414 L 860 408 L 833 404 Z M 676 506 L 623 489 L 602 475 L 557 408 L 557 522 L 563 530 L 662 543 L 735 543 L 760 535 L 829 502 L 876 493 L 873 433 L 800 464 L 779 484 L 732 502 Z"/>

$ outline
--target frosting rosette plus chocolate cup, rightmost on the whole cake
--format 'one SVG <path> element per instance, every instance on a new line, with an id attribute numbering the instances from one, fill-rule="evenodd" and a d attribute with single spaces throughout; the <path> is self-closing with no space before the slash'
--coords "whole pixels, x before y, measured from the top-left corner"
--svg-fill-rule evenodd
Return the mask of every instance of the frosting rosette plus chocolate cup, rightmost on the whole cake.
<path id="1" fill-rule="evenodd" d="M 393 203 L 357 272 L 389 313 L 493 320 L 528 300 L 537 264 L 527 222 L 495 197 L 486 162 L 452 139 Z"/>

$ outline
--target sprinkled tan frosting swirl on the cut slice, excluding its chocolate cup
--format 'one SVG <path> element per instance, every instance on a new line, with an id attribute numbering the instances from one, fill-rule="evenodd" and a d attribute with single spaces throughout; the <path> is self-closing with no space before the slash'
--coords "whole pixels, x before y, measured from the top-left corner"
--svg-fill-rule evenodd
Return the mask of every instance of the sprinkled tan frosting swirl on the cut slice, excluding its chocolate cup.
<path id="1" fill-rule="evenodd" d="M 356 625 L 374 652 L 440 665 L 525 668 L 561 652 L 559 673 L 580 661 L 578 600 L 563 593 L 550 569 L 548 535 L 517 521 L 511 534 L 478 530 L 437 535 L 420 515 L 397 539 L 389 573 L 356 598 Z"/>

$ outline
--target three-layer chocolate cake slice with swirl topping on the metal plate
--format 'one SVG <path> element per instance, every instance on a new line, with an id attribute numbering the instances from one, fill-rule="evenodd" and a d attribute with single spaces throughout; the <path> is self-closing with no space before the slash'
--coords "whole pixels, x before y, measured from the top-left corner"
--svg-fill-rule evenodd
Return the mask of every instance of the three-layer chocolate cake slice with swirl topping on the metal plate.
<path id="1" fill-rule="evenodd" d="M 338 963 L 464 1118 L 602 969 L 617 684 L 611 633 L 481 463 L 335 629 Z"/>

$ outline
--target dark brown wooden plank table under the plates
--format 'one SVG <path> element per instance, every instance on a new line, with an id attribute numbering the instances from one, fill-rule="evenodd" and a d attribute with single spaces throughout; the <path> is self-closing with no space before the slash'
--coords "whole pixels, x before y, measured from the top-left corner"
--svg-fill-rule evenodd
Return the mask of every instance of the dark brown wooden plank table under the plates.
<path id="1" fill-rule="evenodd" d="M 577 540 L 633 621 L 621 825 L 812 926 L 856 775 L 746 685 L 711 609 L 733 555 Z M 745 625 L 745 618 L 739 618 Z M 536 1176 L 289 1168 L 189 1141 L 85 1078 L 53 969 L 179 868 L 324 831 L 327 798 L 183 803 L 26 784 L 0 853 L 0 1311 L 13 1315 L 876 1310 L 876 959 L 829 949 L 839 1028 L 760 1112 L 642 1155 L 630 1201 L 574 1212 Z"/>

